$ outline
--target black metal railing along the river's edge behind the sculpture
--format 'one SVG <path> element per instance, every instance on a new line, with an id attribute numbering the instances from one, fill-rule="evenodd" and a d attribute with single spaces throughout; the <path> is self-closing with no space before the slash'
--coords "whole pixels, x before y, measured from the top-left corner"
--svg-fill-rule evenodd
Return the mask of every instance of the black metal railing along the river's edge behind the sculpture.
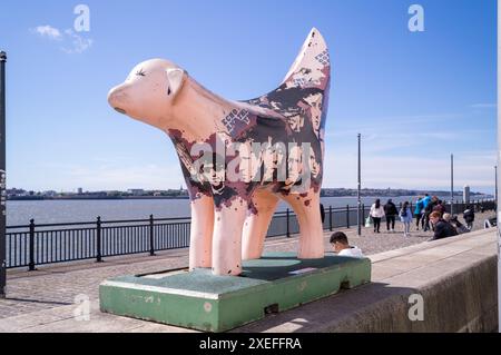
<path id="1" fill-rule="evenodd" d="M 469 204 L 475 210 L 495 208 L 493 200 Z M 462 211 L 466 204 L 455 203 L 454 210 Z M 413 206 L 411 205 L 413 210 Z M 446 206 L 450 210 L 450 205 Z M 362 223 L 370 207 L 362 206 Z M 324 230 L 350 228 L 357 223 L 356 207 L 325 208 Z M 274 215 L 267 237 L 286 236 L 299 233 L 296 215 L 289 209 Z M 33 219 L 29 225 L 7 227 L 7 268 L 68 263 L 106 257 L 146 254 L 189 247 L 190 218 L 155 218 L 131 220 L 101 220 L 40 224 Z"/>

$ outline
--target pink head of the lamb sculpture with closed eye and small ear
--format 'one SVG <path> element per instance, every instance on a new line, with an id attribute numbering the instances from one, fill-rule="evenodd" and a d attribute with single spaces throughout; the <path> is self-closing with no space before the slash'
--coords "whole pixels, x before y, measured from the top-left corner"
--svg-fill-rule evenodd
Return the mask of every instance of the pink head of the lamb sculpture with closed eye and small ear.
<path id="1" fill-rule="evenodd" d="M 167 60 L 151 59 L 136 66 L 126 81 L 108 93 L 109 105 L 120 114 L 164 128 L 186 72 Z"/>

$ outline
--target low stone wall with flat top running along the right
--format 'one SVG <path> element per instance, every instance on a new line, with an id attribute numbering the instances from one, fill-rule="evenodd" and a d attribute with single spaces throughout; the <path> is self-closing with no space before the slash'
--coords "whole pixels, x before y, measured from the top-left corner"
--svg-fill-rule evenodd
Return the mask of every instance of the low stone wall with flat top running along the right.
<path id="1" fill-rule="evenodd" d="M 494 229 L 379 254 L 372 260 L 372 284 L 237 332 L 497 331 Z"/>

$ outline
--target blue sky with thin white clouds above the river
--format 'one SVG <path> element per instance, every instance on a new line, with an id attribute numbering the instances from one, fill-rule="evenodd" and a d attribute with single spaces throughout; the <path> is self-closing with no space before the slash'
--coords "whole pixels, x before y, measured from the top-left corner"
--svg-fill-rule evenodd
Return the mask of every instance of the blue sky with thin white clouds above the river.
<path id="1" fill-rule="evenodd" d="M 90 31 L 68 33 L 78 3 Z M 409 31 L 413 3 L 424 32 Z M 454 152 L 456 186 L 492 191 L 495 14 L 494 0 L 2 1 L 8 186 L 178 188 L 170 140 L 112 111 L 108 90 L 166 58 L 224 97 L 254 98 L 316 27 L 333 61 L 325 187 L 356 187 L 361 132 L 364 187 L 449 189 Z"/>

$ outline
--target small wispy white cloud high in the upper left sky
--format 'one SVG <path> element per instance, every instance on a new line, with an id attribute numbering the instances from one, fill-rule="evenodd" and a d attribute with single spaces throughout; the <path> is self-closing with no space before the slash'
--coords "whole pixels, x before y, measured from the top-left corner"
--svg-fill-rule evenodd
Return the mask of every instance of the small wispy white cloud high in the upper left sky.
<path id="1" fill-rule="evenodd" d="M 50 24 L 39 26 L 31 31 L 43 38 L 56 40 L 62 43 L 59 49 L 68 55 L 80 55 L 90 49 L 94 43 L 94 40 L 91 38 L 86 38 L 85 36 L 76 33 L 71 29 L 60 31 L 58 28 L 55 28 Z"/>

